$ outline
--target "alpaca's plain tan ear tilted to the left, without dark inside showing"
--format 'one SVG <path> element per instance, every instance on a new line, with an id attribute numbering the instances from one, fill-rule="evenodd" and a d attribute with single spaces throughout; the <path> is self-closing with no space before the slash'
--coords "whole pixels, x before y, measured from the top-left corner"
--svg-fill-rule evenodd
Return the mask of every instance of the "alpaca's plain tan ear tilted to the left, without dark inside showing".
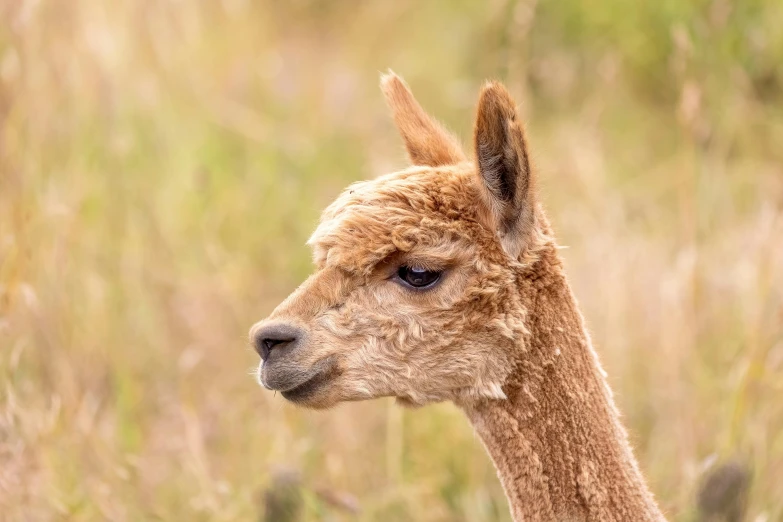
<path id="1" fill-rule="evenodd" d="M 399 76 L 391 71 L 382 75 L 381 89 L 411 163 L 436 167 L 454 165 L 466 159 L 459 141 L 424 112 Z"/>

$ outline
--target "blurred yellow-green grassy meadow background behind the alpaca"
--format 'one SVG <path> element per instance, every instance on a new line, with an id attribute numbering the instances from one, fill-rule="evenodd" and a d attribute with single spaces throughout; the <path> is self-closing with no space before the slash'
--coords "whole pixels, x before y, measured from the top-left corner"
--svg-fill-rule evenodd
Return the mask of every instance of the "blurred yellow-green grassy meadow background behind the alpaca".
<path id="1" fill-rule="evenodd" d="M 320 211 L 406 166 L 391 67 L 466 143 L 486 78 L 520 102 L 668 516 L 694 520 L 731 461 L 746 520 L 783 520 L 782 20 L 777 0 L 0 0 L 0 518 L 509 520 L 453 406 L 315 413 L 251 376 L 247 331 L 310 273 Z"/>

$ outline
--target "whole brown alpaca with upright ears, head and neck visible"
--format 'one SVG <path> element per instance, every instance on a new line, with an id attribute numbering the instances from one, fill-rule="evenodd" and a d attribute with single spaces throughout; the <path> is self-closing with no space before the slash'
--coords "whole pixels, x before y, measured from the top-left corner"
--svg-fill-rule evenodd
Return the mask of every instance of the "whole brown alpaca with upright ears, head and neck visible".
<path id="1" fill-rule="evenodd" d="M 451 400 L 514 520 L 663 520 L 536 197 L 505 88 L 482 90 L 469 161 L 394 74 L 416 166 L 356 183 L 310 239 L 315 273 L 250 332 L 258 379 L 311 408 Z"/>

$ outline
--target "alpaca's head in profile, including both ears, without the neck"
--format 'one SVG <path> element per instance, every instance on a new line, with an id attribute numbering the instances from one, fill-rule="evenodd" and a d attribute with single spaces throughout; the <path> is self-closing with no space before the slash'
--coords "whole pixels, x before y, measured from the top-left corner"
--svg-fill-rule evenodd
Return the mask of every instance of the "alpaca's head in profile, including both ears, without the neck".
<path id="1" fill-rule="evenodd" d="M 525 331 L 515 289 L 546 243 L 515 104 L 483 88 L 468 161 L 400 78 L 382 87 L 415 166 L 324 211 L 315 273 L 250 331 L 258 379 L 313 408 L 502 399 Z"/>

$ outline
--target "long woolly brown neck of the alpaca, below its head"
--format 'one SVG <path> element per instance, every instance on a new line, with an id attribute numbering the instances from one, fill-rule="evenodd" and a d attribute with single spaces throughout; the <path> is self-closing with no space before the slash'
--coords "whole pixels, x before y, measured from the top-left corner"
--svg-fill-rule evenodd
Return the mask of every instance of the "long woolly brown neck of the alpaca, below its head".
<path id="1" fill-rule="evenodd" d="M 540 263 L 539 263 L 540 264 Z M 514 520 L 660 521 L 559 261 L 521 283 L 529 334 L 505 400 L 463 404 Z"/>

